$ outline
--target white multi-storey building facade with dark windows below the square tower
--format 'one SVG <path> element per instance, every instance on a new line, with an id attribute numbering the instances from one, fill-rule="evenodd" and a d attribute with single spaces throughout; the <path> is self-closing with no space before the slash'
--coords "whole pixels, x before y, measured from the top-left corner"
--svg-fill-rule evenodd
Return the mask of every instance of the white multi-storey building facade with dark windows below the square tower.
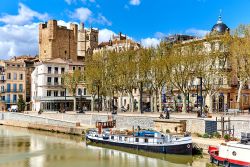
<path id="1" fill-rule="evenodd" d="M 62 75 L 71 70 L 83 69 L 82 66 L 83 64 L 74 65 L 60 58 L 37 63 L 31 74 L 32 110 L 59 110 L 65 107 L 66 101 L 73 102 L 72 94 L 62 85 Z M 79 89 L 82 94 L 79 94 Z M 87 96 L 83 85 L 76 91 L 76 96 L 79 95 L 85 98 Z"/>

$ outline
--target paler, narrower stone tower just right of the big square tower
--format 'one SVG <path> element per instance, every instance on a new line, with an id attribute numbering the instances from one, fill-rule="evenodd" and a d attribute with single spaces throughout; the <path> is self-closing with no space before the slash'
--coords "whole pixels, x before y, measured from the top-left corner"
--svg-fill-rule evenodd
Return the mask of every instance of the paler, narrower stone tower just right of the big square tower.
<path id="1" fill-rule="evenodd" d="M 98 34 L 98 30 L 92 27 L 84 29 L 84 24 L 80 24 L 77 43 L 78 60 L 84 60 L 85 56 L 93 54 L 93 50 L 98 47 Z"/>

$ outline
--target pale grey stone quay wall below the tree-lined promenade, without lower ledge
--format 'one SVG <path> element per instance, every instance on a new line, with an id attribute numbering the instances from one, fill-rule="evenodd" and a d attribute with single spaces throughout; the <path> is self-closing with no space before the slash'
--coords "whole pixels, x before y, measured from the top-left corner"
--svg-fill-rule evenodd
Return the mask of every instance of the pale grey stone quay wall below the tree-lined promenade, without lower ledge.
<path id="1" fill-rule="evenodd" d="M 157 116 L 146 115 L 114 115 L 113 119 L 116 120 L 117 128 L 132 129 L 134 126 L 140 126 L 144 129 L 154 129 L 154 120 Z M 107 121 L 108 115 L 103 113 L 86 113 L 86 114 L 58 114 L 58 113 L 43 113 L 41 115 L 22 114 L 22 113 L 9 113 L 0 112 L 1 120 L 14 120 L 20 122 L 30 122 L 37 124 L 49 124 L 55 126 L 76 126 L 80 123 L 83 126 L 94 127 L 96 121 Z M 205 133 L 205 121 L 213 120 L 209 118 L 172 118 L 172 120 L 186 120 L 186 130 L 191 133 Z M 250 119 L 231 117 L 231 127 L 234 126 L 234 135 L 240 138 L 241 132 L 250 132 Z M 221 124 L 217 123 L 217 129 L 221 129 Z"/>

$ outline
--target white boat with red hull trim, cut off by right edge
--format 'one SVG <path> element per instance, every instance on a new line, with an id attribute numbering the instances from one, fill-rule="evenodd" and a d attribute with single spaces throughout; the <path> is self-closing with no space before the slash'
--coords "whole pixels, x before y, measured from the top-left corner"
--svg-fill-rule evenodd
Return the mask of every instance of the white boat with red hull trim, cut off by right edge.
<path id="1" fill-rule="evenodd" d="M 241 141 L 209 146 L 210 160 L 217 165 L 250 167 L 250 133 L 242 133 Z"/>

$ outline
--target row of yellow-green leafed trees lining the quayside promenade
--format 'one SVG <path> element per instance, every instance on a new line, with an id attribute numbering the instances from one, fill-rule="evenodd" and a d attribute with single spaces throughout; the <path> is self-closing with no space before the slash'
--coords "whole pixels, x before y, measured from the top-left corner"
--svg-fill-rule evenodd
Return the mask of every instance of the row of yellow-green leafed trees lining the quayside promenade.
<path id="1" fill-rule="evenodd" d="M 164 91 L 171 97 L 178 94 L 172 111 L 179 109 L 177 101 L 181 100 L 181 110 L 185 113 L 191 110 L 190 95 L 202 85 L 202 96 L 197 96 L 196 103 L 200 103 L 206 113 L 212 113 L 213 98 L 220 94 L 219 90 L 238 83 L 237 108 L 240 108 L 242 89 L 250 79 L 249 26 L 241 25 L 232 34 L 209 34 L 189 42 L 163 41 L 156 48 L 104 50 L 86 57 L 85 65 L 82 77 L 78 78 L 86 83 L 92 95 L 92 111 L 98 95 L 101 97 L 98 108 L 101 105 L 103 110 L 115 107 L 114 97 L 129 96 L 126 110 L 161 111 Z M 67 89 L 76 88 L 73 83 L 76 80 L 69 76 L 70 82 L 66 83 L 66 78 Z M 135 92 L 140 97 L 147 94 L 151 105 L 142 106 L 142 98 L 136 101 Z"/>

